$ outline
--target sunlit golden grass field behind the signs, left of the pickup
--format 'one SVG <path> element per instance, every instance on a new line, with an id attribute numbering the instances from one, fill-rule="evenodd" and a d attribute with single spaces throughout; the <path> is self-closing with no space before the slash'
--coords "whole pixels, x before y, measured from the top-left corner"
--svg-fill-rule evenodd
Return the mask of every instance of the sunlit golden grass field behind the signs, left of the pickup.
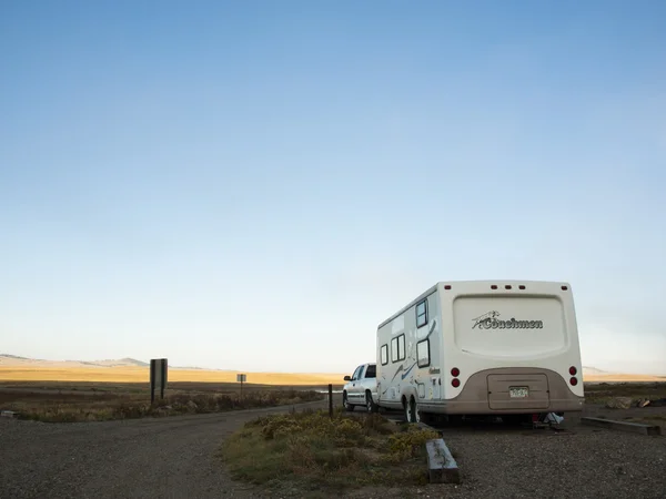
<path id="1" fill-rule="evenodd" d="M 236 371 L 170 369 L 173 383 L 236 383 Z M 325 386 L 344 384 L 343 374 L 244 373 L 249 384 L 279 386 Z M 148 383 L 148 367 L 0 367 L 0 381 L 93 381 Z"/>

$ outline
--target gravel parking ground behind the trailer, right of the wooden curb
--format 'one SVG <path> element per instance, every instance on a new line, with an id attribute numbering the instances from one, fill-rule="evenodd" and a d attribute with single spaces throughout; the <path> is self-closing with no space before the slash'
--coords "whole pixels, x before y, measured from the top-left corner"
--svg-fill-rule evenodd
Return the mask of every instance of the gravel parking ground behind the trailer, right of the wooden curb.
<path id="1" fill-rule="evenodd" d="M 354 498 L 666 499 L 666 436 L 581 426 L 477 425 L 442 429 L 462 483 L 367 488 Z"/>

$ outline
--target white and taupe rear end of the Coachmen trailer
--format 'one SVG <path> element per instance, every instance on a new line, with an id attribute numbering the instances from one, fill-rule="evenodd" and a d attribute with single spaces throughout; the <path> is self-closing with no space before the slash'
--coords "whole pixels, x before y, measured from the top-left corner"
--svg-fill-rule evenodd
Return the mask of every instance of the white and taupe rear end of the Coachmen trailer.
<path id="1" fill-rule="evenodd" d="M 437 411 L 583 409 L 578 329 L 568 284 L 451 283 L 441 285 L 438 294 L 444 369 Z"/>

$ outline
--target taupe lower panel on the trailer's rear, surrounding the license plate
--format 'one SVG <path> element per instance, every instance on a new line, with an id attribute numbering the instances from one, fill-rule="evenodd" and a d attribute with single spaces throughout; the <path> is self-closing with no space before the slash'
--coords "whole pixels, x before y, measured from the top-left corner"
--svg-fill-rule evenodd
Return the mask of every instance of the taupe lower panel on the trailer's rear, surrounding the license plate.
<path id="1" fill-rule="evenodd" d="M 511 397 L 509 387 L 527 387 L 528 395 Z M 502 415 L 582 411 L 584 401 L 557 373 L 521 367 L 482 370 L 467 379 L 457 397 L 420 405 L 423 410 L 443 414 Z"/>

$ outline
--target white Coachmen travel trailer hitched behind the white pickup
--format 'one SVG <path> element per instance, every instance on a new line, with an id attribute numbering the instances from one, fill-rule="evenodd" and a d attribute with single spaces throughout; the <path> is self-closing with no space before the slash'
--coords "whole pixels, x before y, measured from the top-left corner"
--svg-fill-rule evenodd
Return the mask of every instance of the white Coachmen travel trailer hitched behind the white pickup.
<path id="1" fill-rule="evenodd" d="M 377 327 L 376 348 L 376 404 L 407 421 L 583 409 L 565 283 L 437 283 Z"/>

